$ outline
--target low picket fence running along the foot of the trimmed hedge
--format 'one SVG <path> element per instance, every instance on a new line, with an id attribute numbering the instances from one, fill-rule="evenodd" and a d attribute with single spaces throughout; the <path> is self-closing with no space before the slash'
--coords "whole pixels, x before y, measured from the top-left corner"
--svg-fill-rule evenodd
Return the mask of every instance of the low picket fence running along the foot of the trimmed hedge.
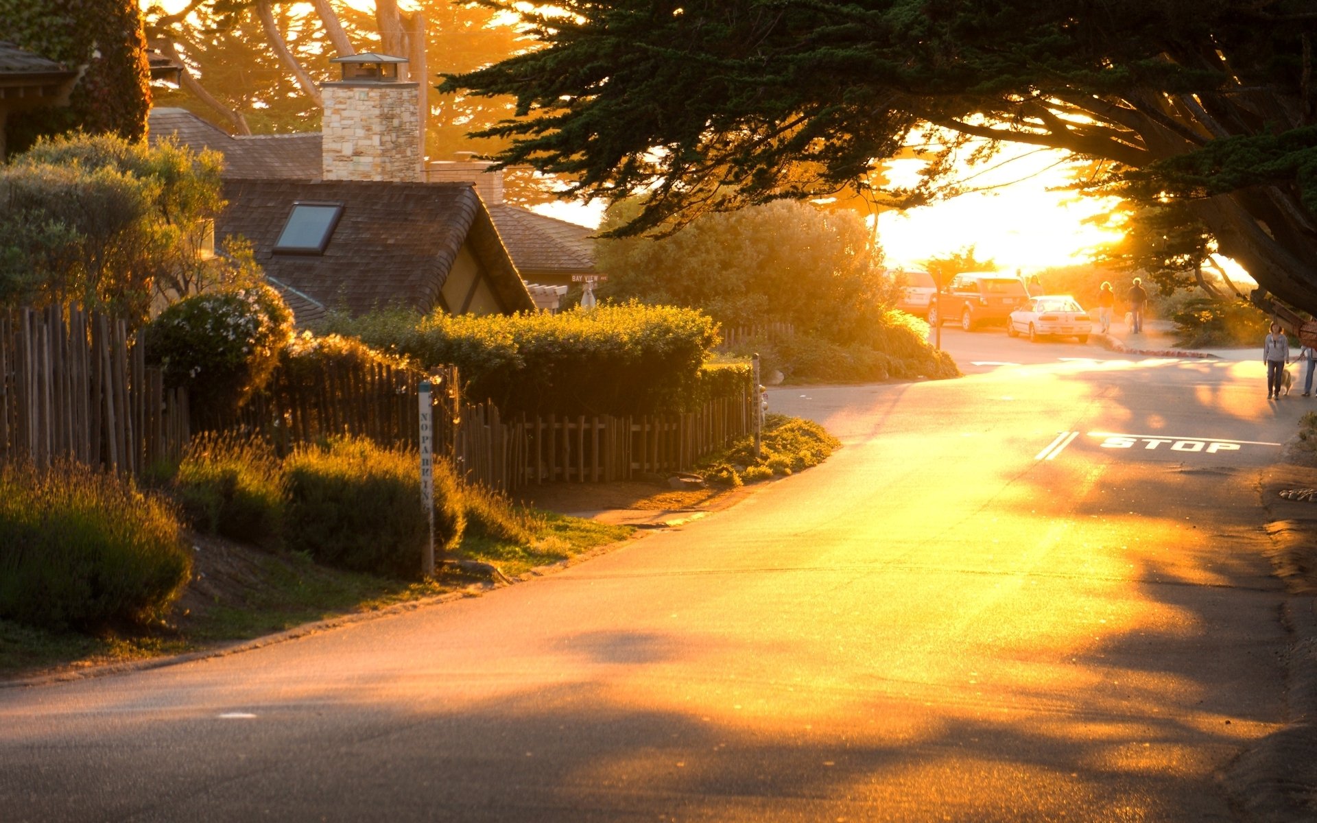
<path id="1" fill-rule="evenodd" d="M 598 483 L 687 471 L 752 431 L 752 403 L 747 383 L 743 392 L 685 415 L 549 415 L 504 421 L 491 403 L 464 404 L 453 460 L 468 482 L 499 491 L 528 483 Z"/>

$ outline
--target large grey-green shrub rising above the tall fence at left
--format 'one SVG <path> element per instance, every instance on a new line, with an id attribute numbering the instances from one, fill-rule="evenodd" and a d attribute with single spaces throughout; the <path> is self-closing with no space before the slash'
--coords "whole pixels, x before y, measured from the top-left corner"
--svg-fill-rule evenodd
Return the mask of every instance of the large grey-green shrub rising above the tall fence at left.
<path id="1" fill-rule="evenodd" d="M 108 134 L 38 140 L 0 167 L 0 299 L 78 302 L 138 323 L 154 294 L 227 273 L 199 253 L 221 205 L 213 151 Z"/>

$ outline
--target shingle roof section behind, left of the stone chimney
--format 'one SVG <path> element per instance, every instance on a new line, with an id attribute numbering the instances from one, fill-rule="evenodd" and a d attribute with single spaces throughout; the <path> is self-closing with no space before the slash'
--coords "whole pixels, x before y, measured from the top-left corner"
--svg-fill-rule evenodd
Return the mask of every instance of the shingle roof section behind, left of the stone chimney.
<path id="1" fill-rule="evenodd" d="M 215 149 L 224 155 L 227 178 L 320 179 L 319 133 L 234 137 L 186 108 L 153 108 L 148 134 L 151 142 L 173 134 L 190 149 Z"/>

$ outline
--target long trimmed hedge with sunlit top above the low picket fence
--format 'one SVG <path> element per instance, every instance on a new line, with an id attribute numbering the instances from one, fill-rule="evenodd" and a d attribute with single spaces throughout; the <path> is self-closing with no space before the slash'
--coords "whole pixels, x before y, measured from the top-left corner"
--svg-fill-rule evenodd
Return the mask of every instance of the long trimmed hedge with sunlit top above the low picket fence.
<path id="1" fill-rule="evenodd" d="M 361 338 L 423 367 L 458 366 L 464 394 L 504 415 L 653 415 L 689 411 L 714 344 L 690 309 L 610 305 L 560 315 L 332 316 L 323 331 Z"/>

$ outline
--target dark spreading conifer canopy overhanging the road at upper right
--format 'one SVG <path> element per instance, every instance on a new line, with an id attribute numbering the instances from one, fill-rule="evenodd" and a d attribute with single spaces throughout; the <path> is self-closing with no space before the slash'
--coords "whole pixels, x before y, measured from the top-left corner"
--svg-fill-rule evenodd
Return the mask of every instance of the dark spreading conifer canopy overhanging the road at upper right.
<path id="1" fill-rule="evenodd" d="M 623 232 L 853 190 L 931 128 L 942 151 L 896 192 L 907 200 L 936 194 L 972 141 L 1060 149 L 1092 161 L 1088 188 L 1130 213 L 1173 207 L 1201 226 L 1171 253 L 1220 252 L 1317 309 L 1306 0 L 562 0 L 522 13 L 545 47 L 441 88 L 516 97 L 519 119 L 482 132 L 514 141 L 504 163 L 570 175 L 568 194 L 648 191 Z"/>

